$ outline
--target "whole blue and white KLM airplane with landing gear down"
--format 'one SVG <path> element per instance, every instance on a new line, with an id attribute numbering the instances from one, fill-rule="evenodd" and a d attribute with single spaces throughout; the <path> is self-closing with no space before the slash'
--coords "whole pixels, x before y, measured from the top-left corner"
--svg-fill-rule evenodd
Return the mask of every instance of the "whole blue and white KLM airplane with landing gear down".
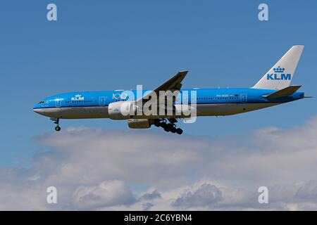
<path id="1" fill-rule="evenodd" d="M 39 115 L 50 117 L 56 124 L 56 131 L 61 130 L 60 119 L 110 118 L 112 120 L 127 120 L 128 127 L 132 129 L 146 129 L 154 125 L 162 127 L 164 131 L 182 134 L 182 129 L 176 127 L 175 123 L 178 120 L 186 120 L 192 115 L 185 115 L 184 112 L 177 114 L 175 111 L 181 111 L 182 105 L 185 103 L 187 105 L 193 103 L 192 105 L 196 110 L 195 117 L 225 116 L 309 98 L 304 96 L 304 92 L 298 91 L 301 86 L 290 85 L 303 49 L 302 45 L 292 46 L 263 75 L 259 82 L 250 88 L 181 89 L 182 80 L 187 75 L 187 71 L 181 71 L 153 91 L 142 91 L 141 97 L 137 99 L 129 100 L 124 94 L 124 90 L 70 92 L 44 98 L 35 105 L 33 111 Z M 136 107 L 131 105 L 137 105 L 141 102 L 142 106 L 144 105 L 142 100 L 146 103 L 149 101 L 147 97 L 150 94 L 160 96 L 161 91 L 178 91 L 177 96 L 173 96 L 172 105 L 169 106 L 170 110 L 173 111 L 172 114 L 168 115 L 166 111 L 163 115 L 131 113 L 136 110 Z M 136 92 L 136 90 L 132 90 L 132 94 L 136 94 Z M 185 93 L 189 94 L 184 100 Z M 156 99 L 156 101 L 158 100 Z M 166 102 L 159 103 L 159 108 L 161 105 L 166 106 Z"/>

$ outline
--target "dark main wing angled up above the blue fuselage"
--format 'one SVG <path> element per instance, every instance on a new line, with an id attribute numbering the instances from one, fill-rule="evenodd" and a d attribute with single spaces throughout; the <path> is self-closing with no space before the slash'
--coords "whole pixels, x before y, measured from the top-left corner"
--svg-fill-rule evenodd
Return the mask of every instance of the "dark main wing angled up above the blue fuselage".
<path id="1" fill-rule="evenodd" d="M 167 82 L 159 86 L 158 88 L 154 89 L 154 91 L 151 91 L 149 94 L 146 94 L 142 98 L 137 99 L 136 103 L 142 101 L 147 102 L 149 101 L 149 96 L 153 94 L 153 92 L 156 93 L 156 96 L 159 99 L 159 91 L 180 91 L 180 88 L 182 87 L 182 80 L 185 78 L 187 75 L 188 71 L 180 71 L 174 77 L 168 79 Z M 145 98 L 145 99 L 144 99 Z"/>

